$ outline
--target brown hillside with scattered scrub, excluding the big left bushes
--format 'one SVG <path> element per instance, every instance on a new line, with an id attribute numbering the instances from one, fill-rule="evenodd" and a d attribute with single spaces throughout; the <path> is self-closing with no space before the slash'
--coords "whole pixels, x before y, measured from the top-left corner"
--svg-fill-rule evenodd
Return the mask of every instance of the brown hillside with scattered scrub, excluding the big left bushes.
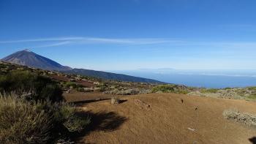
<path id="1" fill-rule="evenodd" d="M 4 75 L 15 72 L 50 77 L 78 115 L 89 115 L 91 124 L 83 132 L 67 135 L 78 143 L 254 144 L 256 140 L 254 126 L 222 115 L 230 108 L 256 114 L 255 87 L 206 89 L 120 82 L 0 62 L 1 86 L 6 86 Z M 113 97 L 121 99 L 118 105 L 110 104 Z M 256 116 L 251 118 L 256 124 Z"/>

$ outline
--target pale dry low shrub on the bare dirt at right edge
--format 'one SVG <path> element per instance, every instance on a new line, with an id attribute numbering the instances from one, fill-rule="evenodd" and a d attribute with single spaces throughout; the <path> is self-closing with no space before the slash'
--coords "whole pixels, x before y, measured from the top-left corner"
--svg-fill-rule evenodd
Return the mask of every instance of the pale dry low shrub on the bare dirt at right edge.
<path id="1" fill-rule="evenodd" d="M 236 109 L 230 109 L 225 110 L 223 112 L 223 115 L 226 119 L 238 121 L 249 126 L 256 126 L 256 115 L 253 115 L 251 113 L 240 113 Z"/>

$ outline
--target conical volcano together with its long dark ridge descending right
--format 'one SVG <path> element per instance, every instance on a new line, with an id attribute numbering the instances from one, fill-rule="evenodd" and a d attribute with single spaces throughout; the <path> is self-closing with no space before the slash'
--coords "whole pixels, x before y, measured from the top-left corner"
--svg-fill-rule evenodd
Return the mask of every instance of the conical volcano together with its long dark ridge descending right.
<path id="1" fill-rule="evenodd" d="M 133 77 L 129 75 L 120 75 L 110 72 L 94 71 L 89 69 L 72 69 L 70 67 L 62 66 L 56 61 L 50 60 L 43 56 L 39 56 L 37 53 L 33 53 L 29 50 L 21 50 L 16 53 L 7 56 L 1 61 L 10 62 L 13 64 L 19 64 L 28 67 L 34 67 L 38 69 L 54 70 L 59 72 L 66 72 L 68 74 L 86 75 L 91 77 L 99 77 L 107 80 L 121 80 L 128 82 L 142 82 L 142 83 L 162 83 L 157 80 L 146 79 L 142 77 Z"/>

